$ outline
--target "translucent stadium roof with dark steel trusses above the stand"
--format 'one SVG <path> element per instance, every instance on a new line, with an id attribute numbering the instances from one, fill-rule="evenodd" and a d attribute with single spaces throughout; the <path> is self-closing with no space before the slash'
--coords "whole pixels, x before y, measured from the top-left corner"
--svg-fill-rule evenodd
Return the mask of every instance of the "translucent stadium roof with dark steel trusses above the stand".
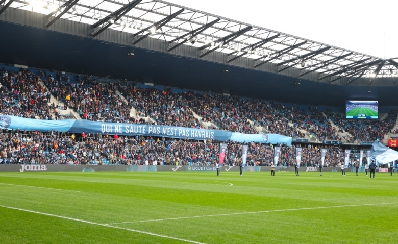
<path id="1" fill-rule="evenodd" d="M 270 62 L 278 72 L 295 67 L 300 76 L 317 72 L 330 82 L 398 76 L 398 58 L 384 60 L 161 0 L 0 0 L 0 13 L 7 7 L 45 14 L 47 27 L 69 19 L 92 25 L 94 37 L 113 29 L 131 33 L 133 45 L 157 38 L 168 42 L 168 51 L 191 45 L 200 58 L 222 52 L 228 63 L 246 57 L 253 68 Z"/>

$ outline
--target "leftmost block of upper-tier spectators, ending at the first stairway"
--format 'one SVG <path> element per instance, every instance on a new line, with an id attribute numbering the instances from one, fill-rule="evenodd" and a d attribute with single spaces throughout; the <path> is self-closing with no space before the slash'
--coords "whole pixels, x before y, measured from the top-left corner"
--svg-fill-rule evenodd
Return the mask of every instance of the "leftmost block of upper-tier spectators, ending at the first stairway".
<path id="1" fill-rule="evenodd" d="M 0 75 L 0 113 L 24 118 L 53 119 L 48 106 L 49 92 L 41 86 L 40 77 L 27 69 L 19 72 L 4 67 Z"/>

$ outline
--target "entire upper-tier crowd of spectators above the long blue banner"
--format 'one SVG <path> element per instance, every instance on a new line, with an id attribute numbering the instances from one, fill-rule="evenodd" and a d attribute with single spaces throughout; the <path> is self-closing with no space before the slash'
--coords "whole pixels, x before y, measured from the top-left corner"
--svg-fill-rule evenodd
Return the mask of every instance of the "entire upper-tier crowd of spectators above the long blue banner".
<path id="1" fill-rule="evenodd" d="M 42 87 L 40 81 L 46 87 Z M 17 74 L 2 68 L 1 113 L 52 119 L 51 110 L 60 106 L 48 105 L 51 93 L 64 104 L 62 109 L 72 108 L 88 120 L 137 124 L 145 123 L 143 117 L 150 117 L 146 123 L 154 121 L 157 125 L 189 128 L 203 128 L 202 121 L 208 121 L 216 129 L 248 134 L 275 133 L 303 138 L 303 132 L 307 131 L 319 141 L 342 140 L 339 134 L 343 131 L 351 134 L 348 140 L 381 140 L 391 131 L 397 117 L 397 111 L 392 110 L 383 120 L 347 120 L 343 114 L 320 111 L 317 107 L 295 107 L 211 92 L 143 88 L 136 83 L 103 84 L 92 76 L 72 77 L 61 72 L 34 74 L 21 68 Z M 137 114 L 131 117 L 132 107 Z M 332 127 L 330 121 L 337 128 Z"/>

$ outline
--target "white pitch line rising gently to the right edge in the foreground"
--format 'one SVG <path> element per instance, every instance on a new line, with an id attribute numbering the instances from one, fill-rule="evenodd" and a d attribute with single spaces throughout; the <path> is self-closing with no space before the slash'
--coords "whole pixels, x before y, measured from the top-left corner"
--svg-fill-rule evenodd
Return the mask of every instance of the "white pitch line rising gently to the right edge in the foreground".
<path id="1" fill-rule="evenodd" d="M 398 202 L 396 202 L 396 203 L 398 203 Z M 201 216 L 190 216 L 190 217 L 177 217 L 177 218 L 159 218 L 159 219 L 148 219 L 148 220 L 146 220 L 146 221 L 131 221 L 131 222 L 111 223 L 111 224 L 106 224 L 106 226 L 118 225 L 118 224 L 133 224 L 133 223 L 142 223 L 142 222 L 168 221 L 168 220 L 184 219 L 184 218 L 217 217 L 217 216 L 229 216 L 229 215 L 238 215 L 238 214 L 272 213 L 272 212 L 285 212 L 285 211 L 298 211 L 298 210 L 312 210 L 312 209 L 323 209 L 323 208 L 343 208 L 343 207 L 358 207 L 358 206 L 385 205 L 385 204 L 396 204 L 396 203 L 369 203 L 369 204 L 340 205 L 340 206 L 313 207 L 313 208 L 277 209 L 277 210 L 266 210 L 266 211 L 257 211 L 257 212 L 224 213 L 224 214 L 201 215 Z"/>

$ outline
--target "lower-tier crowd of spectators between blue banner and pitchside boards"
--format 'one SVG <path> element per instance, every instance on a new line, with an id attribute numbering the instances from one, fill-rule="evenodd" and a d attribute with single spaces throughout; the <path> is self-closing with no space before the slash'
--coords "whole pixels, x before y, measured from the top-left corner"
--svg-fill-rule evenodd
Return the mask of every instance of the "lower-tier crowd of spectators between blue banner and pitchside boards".
<path id="1" fill-rule="evenodd" d="M 117 135 L 76 135 L 59 131 L 0 130 L 0 163 L 2 164 L 125 164 L 125 165 L 214 165 L 218 162 L 219 142 L 212 140 L 166 140 L 152 137 Z M 225 165 L 241 163 L 243 143 L 229 142 Z M 302 147 L 302 166 L 320 164 L 319 145 L 279 145 L 279 166 L 294 166 L 296 147 Z M 248 143 L 247 164 L 270 166 L 274 145 Z M 327 146 L 325 166 L 343 163 L 344 151 Z M 358 161 L 352 154 L 352 161 Z M 366 161 L 364 161 L 366 162 Z"/>

